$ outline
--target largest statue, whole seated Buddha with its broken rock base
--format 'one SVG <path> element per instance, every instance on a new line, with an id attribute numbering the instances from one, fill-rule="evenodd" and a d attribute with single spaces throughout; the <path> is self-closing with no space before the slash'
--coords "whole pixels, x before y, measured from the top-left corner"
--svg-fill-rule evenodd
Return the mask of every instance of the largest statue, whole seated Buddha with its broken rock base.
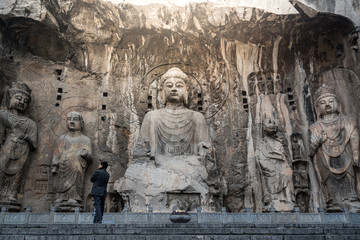
<path id="1" fill-rule="evenodd" d="M 165 108 L 145 115 L 133 161 L 115 184 L 132 211 L 149 205 L 163 211 L 217 207 L 220 178 L 214 150 L 204 116 L 185 107 L 188 81 L 179 68 L 161 77 Z"/>

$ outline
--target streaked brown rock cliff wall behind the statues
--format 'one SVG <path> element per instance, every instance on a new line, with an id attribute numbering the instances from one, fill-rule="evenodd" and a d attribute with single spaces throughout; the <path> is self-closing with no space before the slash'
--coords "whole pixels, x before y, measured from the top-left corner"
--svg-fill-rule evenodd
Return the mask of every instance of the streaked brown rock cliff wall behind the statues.
<path id="1" fill-rule="evenodd" d="M 38 125 L 38 149 L 21 199 L 34 211 L 47 211 L 53 201 L 50 165 L 66 114 L 82 113 L 93 144 L 95 163 L 84 188 L 88 210 L 96 162 L 109 161 L 111 183 L 123 177 L 145 113 L 160 108 L 158 80 L 171 67 L 191 79 L 189 108 L 206 118 L 231 212 L 263 210 L 255 149 L 264 115 L 279 121 L 293 166 L 294 134 L 299 157 L 309 160 L 312 96 L 320 84 L 338 86 L 342 111 L 359 114 L 358 29 L 340 15 L 101 0 L 6 0 L 0 13 L 0 89 L 23 81 L 33 90 L 28 116 Z M 311 162 L 306 172 L 309 180 L 301 188 L 295 184 L 295 194 L 305 196 L 304 209 L 311 212 L 322 204 L 311 197 L 319 191 Z M 120 196 L 110 195 L 108 211 L 121 210 Z"/>

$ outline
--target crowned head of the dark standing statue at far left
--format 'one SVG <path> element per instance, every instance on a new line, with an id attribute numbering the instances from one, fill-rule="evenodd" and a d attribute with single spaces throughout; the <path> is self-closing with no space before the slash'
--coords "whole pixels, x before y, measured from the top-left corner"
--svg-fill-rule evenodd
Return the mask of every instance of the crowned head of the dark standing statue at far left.
<path id="1" fill-rule="evenodd" d="M 13 83 L 8 89 L 9 109 L 24 112 L 31 101 L 31 89 L 25 83 Z"/>

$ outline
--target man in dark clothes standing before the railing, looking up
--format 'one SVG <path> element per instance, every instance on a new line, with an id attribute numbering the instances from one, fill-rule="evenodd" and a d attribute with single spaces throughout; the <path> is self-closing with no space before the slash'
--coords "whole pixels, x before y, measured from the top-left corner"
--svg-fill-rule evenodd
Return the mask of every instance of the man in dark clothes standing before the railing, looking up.
<path id="1" fill-rule="evenodd" d="M 94 175 L 90 179 L 90 181 L 94 183 L 91 190 L 91 196 L 94 197 L 95 206 L 94 223 L 101 223 L 102 216 L 104 214 L 106 188 L 110 178 L 109 173 L 106 171 L 107 167 L 107 162 L 101 162 L 99 169 L 95 171 Z"/>

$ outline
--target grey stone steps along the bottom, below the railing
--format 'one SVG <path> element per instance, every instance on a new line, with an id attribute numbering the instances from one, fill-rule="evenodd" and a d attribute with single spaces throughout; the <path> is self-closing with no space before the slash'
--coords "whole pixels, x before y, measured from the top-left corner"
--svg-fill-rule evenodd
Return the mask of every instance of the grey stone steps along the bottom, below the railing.
<path id="1" fill-rule="evenodd" d="M 1 224 L 0 240 L 360 240 L 359 224 Z"/>

